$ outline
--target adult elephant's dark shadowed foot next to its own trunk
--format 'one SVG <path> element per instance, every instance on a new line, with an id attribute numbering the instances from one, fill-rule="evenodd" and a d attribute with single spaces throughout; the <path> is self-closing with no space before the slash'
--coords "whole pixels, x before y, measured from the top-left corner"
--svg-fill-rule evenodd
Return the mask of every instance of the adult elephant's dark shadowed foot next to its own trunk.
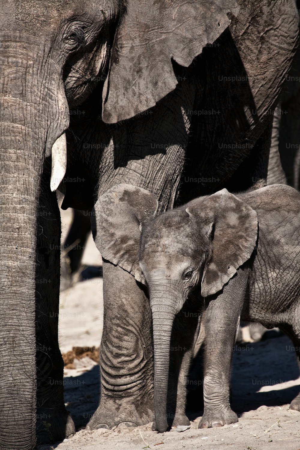
<path id="1" fill-rule="evenodd" d="M 53 444 L 74 436 L 75 425 L 67 411 L 37 410 L 36 434 L 38 444 Z"/>

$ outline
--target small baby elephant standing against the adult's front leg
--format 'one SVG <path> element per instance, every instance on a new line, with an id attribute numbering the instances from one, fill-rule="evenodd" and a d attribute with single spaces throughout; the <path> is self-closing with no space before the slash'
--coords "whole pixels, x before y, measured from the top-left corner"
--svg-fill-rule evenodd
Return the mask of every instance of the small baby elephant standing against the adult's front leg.
<path id="1" fill-rule="evenodd" d="M 157 430 L 168 428 L 175 316 L 195 298 L 203 305 L 206 334 L 199 428 L 237 422 L 229 380 L 240 320 L 279 327 L 293 341 L 299 362 L 300 194 L 280 184 L 237 195 L 222 189 L 157 215 L 152 193 L 120 184 L 99 198 L 95 208 L 101 218 L 96 243 L 103 257 L 148 286 Z M 184 333 L 188 336 L 188 327 Z M 177 374 L 175 424 L 188 423 L 182 392 L 191 351 L 186 353 Z M 290 409 L 300 411 L 300 394 Z"/>

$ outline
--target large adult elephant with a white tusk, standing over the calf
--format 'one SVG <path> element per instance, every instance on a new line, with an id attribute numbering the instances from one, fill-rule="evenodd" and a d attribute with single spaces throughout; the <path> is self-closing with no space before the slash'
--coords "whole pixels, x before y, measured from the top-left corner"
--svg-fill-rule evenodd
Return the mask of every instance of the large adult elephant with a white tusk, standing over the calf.
<path id="1" fill-rule="evenodd" d="M 63 207 L 90 210 L 129 182 L 164 211 L 224 186 L 263 185 L 268 111 L 297 33 L 292 0 L 3 5 L 1 448 L 34 448 L 36 418 L 40 441 L 74 432 L 58 348 L 53 191 L 60 185 Z M 147 291 L 121 254 L 104 258 L 102 396 L 90 428 L 153 414 Z"/>

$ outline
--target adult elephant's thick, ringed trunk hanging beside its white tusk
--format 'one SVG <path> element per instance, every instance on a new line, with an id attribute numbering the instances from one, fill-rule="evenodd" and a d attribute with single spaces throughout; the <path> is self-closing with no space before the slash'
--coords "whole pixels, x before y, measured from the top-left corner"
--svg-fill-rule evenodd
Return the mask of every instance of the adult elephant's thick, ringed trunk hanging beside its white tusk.
<path id="1" fill-rule="evenodd" d="M 5 450 L 36 447 L 36 228 L 49 102 L 35 78 L 36 55 L 25 47 L 10 49 L 4 40 L 0 51 L 0 448 Z"/>

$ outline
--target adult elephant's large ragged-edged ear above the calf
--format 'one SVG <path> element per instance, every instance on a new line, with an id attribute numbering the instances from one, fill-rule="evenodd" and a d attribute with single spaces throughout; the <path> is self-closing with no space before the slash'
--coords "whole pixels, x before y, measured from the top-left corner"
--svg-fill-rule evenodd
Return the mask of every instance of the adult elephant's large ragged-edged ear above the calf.
<path id="1" fill-rule="evenodd" d="M 134 117 L 175 89 L 171 60 L 188 67 L 237 15 L 236 0 L 128 0 L 103 89 L 104 122 Z"/>

